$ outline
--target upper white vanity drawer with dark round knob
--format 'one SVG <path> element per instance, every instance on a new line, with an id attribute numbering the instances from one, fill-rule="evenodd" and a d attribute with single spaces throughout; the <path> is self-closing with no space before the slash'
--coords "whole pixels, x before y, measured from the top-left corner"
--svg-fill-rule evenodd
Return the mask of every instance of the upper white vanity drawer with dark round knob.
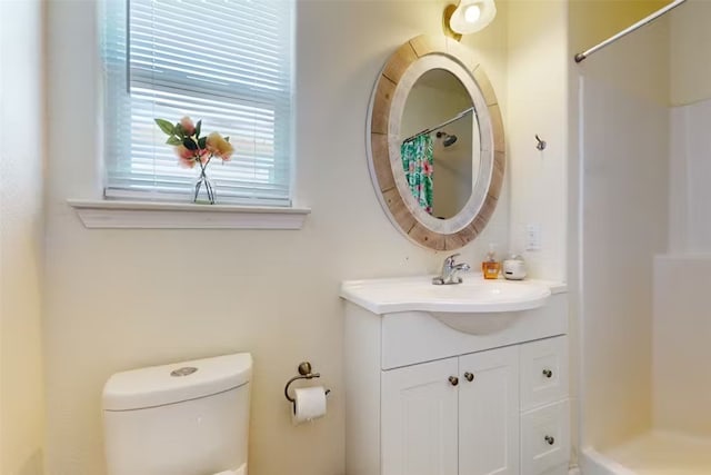
<path id="1" fill-rule="evenodd" d="M 568 397 L 568 339 L 545 338 L 521 345 L 521 410 Z"/>

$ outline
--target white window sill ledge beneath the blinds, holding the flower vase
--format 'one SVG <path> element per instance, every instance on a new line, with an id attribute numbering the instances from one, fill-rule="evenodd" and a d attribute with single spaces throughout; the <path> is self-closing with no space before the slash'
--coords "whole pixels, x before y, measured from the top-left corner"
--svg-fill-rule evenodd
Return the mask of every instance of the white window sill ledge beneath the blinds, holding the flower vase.
<path id="1" fill-rule="evenodd" d="M 69 199 L 94 229 L 301 229 L 308 208 Z"/>

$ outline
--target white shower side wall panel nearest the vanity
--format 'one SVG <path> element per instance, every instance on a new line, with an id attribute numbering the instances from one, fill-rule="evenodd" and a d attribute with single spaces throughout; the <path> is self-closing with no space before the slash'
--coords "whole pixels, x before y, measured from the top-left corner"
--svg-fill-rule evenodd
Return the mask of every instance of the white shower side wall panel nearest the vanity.
<path id="1" fill-rule="evenodd" d="M 595 447 L 652 422 L 652 257 L 667 248 L 669 112 L 583 79 L 582 420 Z"/>

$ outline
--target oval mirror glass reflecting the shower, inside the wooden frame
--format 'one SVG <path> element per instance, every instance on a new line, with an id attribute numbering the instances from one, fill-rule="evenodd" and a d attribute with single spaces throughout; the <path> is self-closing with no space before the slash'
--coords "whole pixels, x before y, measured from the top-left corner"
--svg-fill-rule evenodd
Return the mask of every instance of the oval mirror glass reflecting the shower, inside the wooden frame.
<path id="1" fill-rule="evenodd" d="M 420 76 L 401 121 L 402 166 L 410 190 L 439 219 L 459 214 L 477 182 L 479 123 L 461 81 L 444 69 Z"/>

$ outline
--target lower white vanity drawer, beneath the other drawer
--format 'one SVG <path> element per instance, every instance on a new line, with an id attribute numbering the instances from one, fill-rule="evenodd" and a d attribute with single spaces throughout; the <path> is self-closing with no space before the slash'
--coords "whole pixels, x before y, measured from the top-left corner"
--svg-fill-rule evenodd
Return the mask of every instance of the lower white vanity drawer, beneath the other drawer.
<path id="1" fill-rule="evenodd" d="M 548 474 L 561 465 L 567 472 L 569 457 L 569 399 L 521 415 L 521 475 Z"/>

